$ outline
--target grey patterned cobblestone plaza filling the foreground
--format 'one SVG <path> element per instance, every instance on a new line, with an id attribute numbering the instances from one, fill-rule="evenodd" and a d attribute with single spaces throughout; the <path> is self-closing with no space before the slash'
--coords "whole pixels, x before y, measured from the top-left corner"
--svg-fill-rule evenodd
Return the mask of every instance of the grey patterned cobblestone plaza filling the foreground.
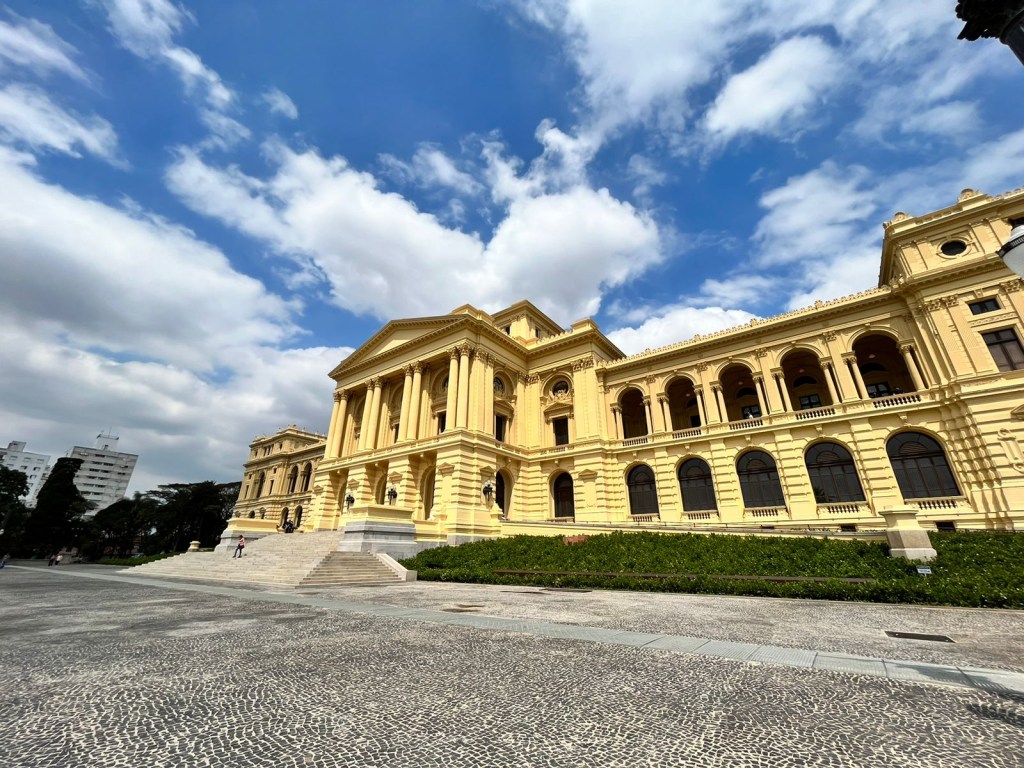
<path id="1" fill-rule="evenodd" d="M 9 566 L 0 765 L 1024 766 L 1022 630 L 1019 611 Z"/>

